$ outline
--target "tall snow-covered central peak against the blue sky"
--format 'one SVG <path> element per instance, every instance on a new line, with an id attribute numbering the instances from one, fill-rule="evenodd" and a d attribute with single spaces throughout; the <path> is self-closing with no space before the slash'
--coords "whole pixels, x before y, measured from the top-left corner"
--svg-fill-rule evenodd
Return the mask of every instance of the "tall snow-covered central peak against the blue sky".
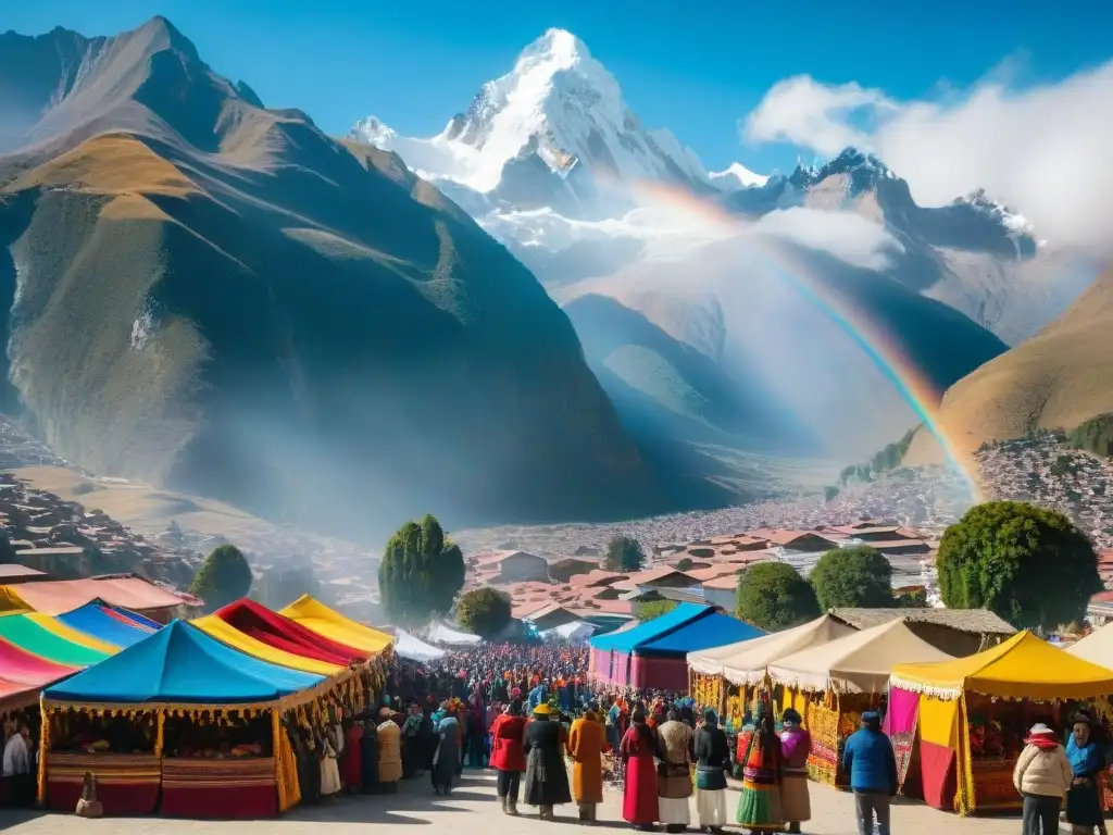
<path id="1" fill-rule="evenodd" d="M 644 129 L 614 77 L 562 29 L 526 47 L 514 69 L 483 85 L 437 136 L 402 137 L 375 117 L 351 136 L 397 151 L 432 180 L 481 194 L 505 186 L 513 164 L 528 159 L 560 179 L 582 166 L 604 185 L 654 180 L 712 190 L 696 153 L 667 129 Z"/>

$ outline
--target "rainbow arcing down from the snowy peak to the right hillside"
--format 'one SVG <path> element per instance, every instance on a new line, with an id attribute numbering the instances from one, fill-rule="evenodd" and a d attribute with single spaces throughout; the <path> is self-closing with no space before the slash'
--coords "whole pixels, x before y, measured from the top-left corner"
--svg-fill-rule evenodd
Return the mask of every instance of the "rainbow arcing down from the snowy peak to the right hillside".
<path id="1" fill-rule="evenodd" d="M 690 191 L 680 188 L 640 183 L 634 187 L 634 193 L 648 203 L 667 203 L 696 213 L 720 226 L 737 229 L 748 225 L 746 220 L 720 206 L 700 199 Z M 942 401 L 943 393 L 904 354 L 896 340 L 883 326 L 861 315 L 860 311 L 854 310 L 850 305 L 835 297 L 834 294 L 821 293 L 814 282 L 804 277 L 807 271 L 787 253 L 775 247 L 762 249 L 762 253 L 782 267 L 780 275 L 794 289 L 825 314 L 865 352 L 870 362 L 877 366 L 878 371 L 916 413 L 924 428 L 932 433 L 948 463 L 968 482 L 974 501 L 981 501 L 982 489 L 977 462 L 961 443 L 955 442 L 938 419 L 937 404 Z"/>

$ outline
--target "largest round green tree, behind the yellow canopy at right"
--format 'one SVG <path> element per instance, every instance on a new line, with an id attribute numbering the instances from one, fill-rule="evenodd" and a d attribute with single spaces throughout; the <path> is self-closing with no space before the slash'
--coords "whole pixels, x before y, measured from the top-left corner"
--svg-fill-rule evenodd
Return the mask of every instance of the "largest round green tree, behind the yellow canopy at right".
<path id="1" fill-rule="evenodd" d="M 1101 591 L 1093 543 L 1063 513 L 986 502 L 947 528 L 936 554 L 952 609 L 986 608 L 1024 629 L 1081 620 Z"/>

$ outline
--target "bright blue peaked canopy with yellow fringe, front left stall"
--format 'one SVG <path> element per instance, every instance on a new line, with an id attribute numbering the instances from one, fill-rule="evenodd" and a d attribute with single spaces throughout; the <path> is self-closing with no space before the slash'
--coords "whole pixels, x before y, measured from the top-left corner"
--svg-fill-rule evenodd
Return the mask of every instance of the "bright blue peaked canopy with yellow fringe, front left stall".
<path id="1" fill-rule="evenodd" d="M 43 691 L 76 704 L 240 705 L 274 701 L 324 678 L 278 667 L 209 638 L 181 620 Z"/>

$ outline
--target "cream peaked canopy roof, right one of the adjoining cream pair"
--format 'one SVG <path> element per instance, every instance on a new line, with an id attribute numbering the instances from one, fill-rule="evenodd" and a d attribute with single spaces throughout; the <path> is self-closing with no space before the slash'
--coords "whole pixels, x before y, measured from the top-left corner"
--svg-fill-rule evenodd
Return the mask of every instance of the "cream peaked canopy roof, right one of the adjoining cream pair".
<path id="1" fill-rule="evenodd" d="M 863 629 L 769 662 L 769 678 L 800 690 L 885 692 L 898 664 L 951 661 L 903 620 Z"/>

